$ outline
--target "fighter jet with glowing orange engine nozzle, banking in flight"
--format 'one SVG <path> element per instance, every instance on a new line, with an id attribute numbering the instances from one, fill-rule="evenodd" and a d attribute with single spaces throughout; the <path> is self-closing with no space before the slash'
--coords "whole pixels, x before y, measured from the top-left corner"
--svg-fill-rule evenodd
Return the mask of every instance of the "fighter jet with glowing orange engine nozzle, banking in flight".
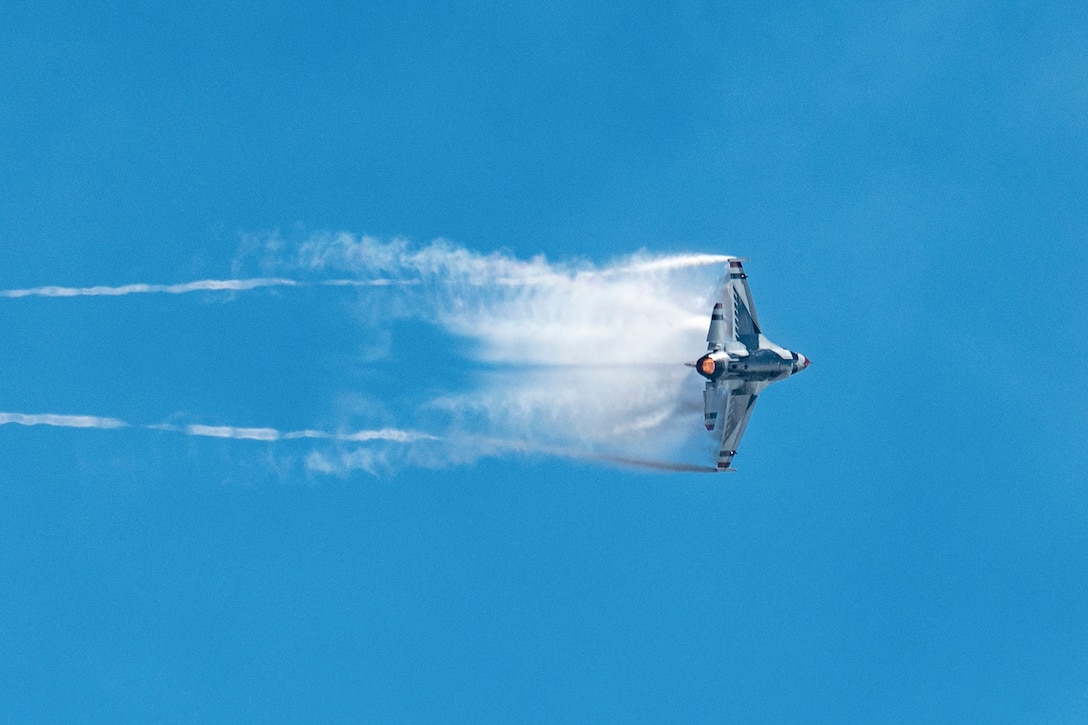
<path id="1" fill-rule="evenodd" d="M 689 362 L 706 378 L 703 417 L 719 442 L 718 470 L 734 470 L 733 456 L 759 393 L 812 364 L 763 335 L 742 261 L 746 259 L 729 261 L 710 314 L 706 355 Z"/>

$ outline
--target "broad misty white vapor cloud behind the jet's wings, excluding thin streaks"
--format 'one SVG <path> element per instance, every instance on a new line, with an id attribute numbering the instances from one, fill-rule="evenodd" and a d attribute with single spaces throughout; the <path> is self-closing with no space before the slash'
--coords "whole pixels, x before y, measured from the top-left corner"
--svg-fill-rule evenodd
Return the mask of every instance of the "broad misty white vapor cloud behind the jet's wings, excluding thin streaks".
<path id="1" fill-rule="evenodd" d="M 714 268 L 733 257 L 638 253 L 605 265 L 552 262 L 444 239 L 417 247 L 347 233 L 313 235 L 293 256 L 288 247 L 270 237 L 262 269 L 417 282 L 394 297 L 367 298 L 364 335 L 391 318 L 413 319 L 468 342 L 468 357 L 485 364 L 469 368 L 445 348 L 418 351 L 443 369 L 471 369 L 472 384 L 413 411 L 437 426 L 442 441 L 408 451 L 408 463 L 514 453 L 690 469 L 660 459 L 703 430 L 701 383 L 682 364 L 706 348 L 721 277 Z M 425 366 L 419 373 L 428 374 Z M 311 462 L 329 471 L 356 465 L 349 454 Z M 369 456 L 358 462 L 371 465 Z"/>

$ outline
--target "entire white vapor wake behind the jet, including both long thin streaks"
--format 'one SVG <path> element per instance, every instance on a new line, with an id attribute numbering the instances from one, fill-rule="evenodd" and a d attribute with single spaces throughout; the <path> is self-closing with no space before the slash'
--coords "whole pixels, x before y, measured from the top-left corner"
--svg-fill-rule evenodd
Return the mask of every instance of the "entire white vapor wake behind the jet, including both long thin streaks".
<path id="1" fill-rule="evenodd" d="M 0 297 L 372 288 L 362 298 L 357 321 L 362 329 L 356 334 L 381 339 L 393 320 L 413 320 L 459 343 L 416 351 L 411 360 L 401 360 L 406 388 L 420 378 L 429 383 L 469 382 L 410 405 L 382 392 L 385 402 L 375 404 L 383 414 L 378 419 L 420 420 L 426 431 L 385 426 L 355 432 L 129 426 L 115 418 L 20 413 L 0 413 L 0 425 L 128 427 L 196 438 L 311 441 L 323 447 L 307 456 L 307 467 L 337 475 L 405 465 L 443 467 L 504 455 L 707 469 L 703 462 L 675 459 L 690 457 L 684 451 L 703 429 L 701 381 L 683 362 L 706 347 L 721 275 L 714 268 L 733 257 L 641 251 L 604 265 L 554 262 L 544 256 L 480 254 L 444 239 L 416 246 L 348 233 L 314 234 L 294 247 L 271 235 L 256 244 L 250 239 L 248 247 L 255 246 L 264 253 L 258 260 L 259 277 L 166 285 L 42 286 L 0 291 Z M 239 265 L 244 262 L 243 257 Z M 460 352 L 455 355 L 454 349 Z"/>

